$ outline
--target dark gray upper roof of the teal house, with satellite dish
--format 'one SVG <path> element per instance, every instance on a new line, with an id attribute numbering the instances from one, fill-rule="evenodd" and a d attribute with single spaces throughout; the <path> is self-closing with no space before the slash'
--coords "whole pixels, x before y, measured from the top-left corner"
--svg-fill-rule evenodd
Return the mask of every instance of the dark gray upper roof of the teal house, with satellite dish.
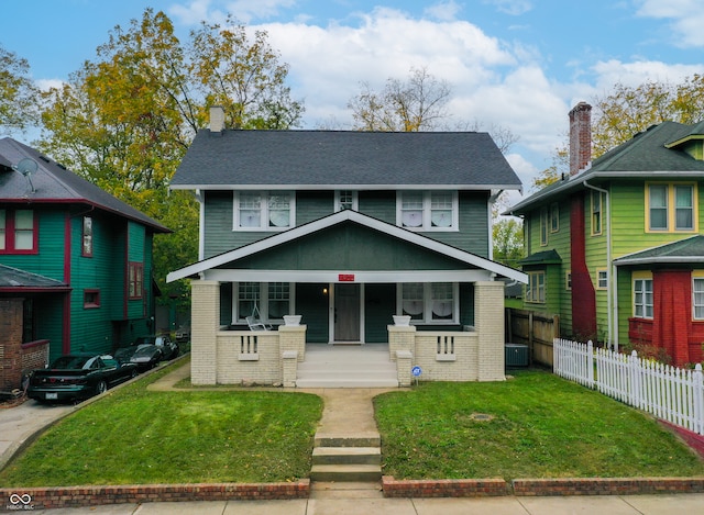
<path id="1" fill-rule="evenodd" d="M 12 168 L 24 158 L 37 164 L 37 170 L 30 177 L 31 184 Z M 170 232 L 141 211 L 11 137 L 0 139 L 0 202 L 8 201 L 84 203 L 139 222 L 156 233 Z"/>

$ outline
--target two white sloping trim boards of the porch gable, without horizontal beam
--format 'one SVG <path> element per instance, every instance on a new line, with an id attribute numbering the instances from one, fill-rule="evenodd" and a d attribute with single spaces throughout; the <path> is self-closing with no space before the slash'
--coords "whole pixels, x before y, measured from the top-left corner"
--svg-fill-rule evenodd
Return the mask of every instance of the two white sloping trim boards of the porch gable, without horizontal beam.
<path id="1" fill-rule="evenodd" d="M 389 236 L 400 238 L 405 242 L 409 242 L 411 244 L 421 246 L 424 248 L 436 250 L 449 258 L 453 258 L 464 262 L 468 266 L 468 268 L 481 268 L 483 270 L 487 270 L 490 272 L 496 273 L 502 277 L 507 277 L 520 282 L 528 282 L 527 276 L 519 270 L 515 270 L 510 267 L 506 267 L 496 261 L 492 261 L 491 259 L 486 259 L 475 254 L 461 250 L 459 248 L 440 243 L 436 239 L 429 238 L 421 234 L 414 233 L 402 227 L 397 227 L 396 225 L 382 222 L 381 220 L 374 219 L 372 216 L 367 216 L 365 214 L 362 214 L 352 210 L 340 211 L 338 213 L 319 219 L 315 222 L 309 222 L 307 224 L 300 225 L 289 231 L 277 233 L 273 236 L 270 236 L 264 239 L 260 239 L 257 242 L 251 243 L 243 247 L 239 247 L 233 250 L 229 250 L 227 253 L 220 254 L 218 256 L 212 256 L 208 259 L 204 259 L 202 261 L 198 261 L 194 265 L 189 265 L 185 268 L 182 268 L 180 270 L 170 272 L 166 277 L 166 282 L 172 282 L 177 279 L 185 279 L 188 277 L 196 276 L 206 270 L 221 267 L 231 261 L 242 259 L 248 256 L 252 256 L 253 254 L 256 254 L 263 250 L 268 250 L 276 246 L 298 239 L 308 234 L 312 234 L 323 228 L 332 227 L 337 224 L 344 223 L 348 221 L 361 224 L 365 227 L 370 227 L 372 229 L 378 231 Z"/>

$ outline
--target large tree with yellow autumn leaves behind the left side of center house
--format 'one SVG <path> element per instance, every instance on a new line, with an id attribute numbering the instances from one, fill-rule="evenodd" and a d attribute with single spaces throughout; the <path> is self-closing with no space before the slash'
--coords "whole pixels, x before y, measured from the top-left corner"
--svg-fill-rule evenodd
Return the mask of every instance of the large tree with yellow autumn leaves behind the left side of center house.
<path id="1" fill-rule="evenodd" d="M 179 296 L 185 284 L 163 279 L 198 257 L 198 206 L 169 180 L 213 103 L 230 127 L 295 126 L 302 105 L 287 72 L 264 32 L 250 41 L 242 25 L 202 23 L 182 43 L 166 14 L 146 9 L 44 94 L 40 147 L 174 231 L 155 238 L 155 268 Z"/>

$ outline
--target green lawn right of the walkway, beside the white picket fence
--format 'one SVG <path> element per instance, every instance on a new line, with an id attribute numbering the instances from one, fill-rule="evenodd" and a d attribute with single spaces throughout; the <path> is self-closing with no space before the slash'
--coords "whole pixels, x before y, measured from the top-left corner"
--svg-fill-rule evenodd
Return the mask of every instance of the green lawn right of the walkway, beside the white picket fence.
<path id="1" fill-rule="evenodd" d="M 375 408 L 384 473 L 396 479 L 704 475 L 704 461 L 652 418 L 547 372 L 421 383 L 377 396 Z"/>

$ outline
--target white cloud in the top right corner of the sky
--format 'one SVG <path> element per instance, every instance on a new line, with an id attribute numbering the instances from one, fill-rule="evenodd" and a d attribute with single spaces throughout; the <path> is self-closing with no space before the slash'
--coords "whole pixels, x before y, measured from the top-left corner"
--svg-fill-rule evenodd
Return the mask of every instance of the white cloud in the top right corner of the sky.
<path id="1" fill-rule="evenodd" d="M 639 16 L 672 20 L 672 43 L 680 47 L 704 46 L 704 10 L 701 0 L 637 0 Z"/>

